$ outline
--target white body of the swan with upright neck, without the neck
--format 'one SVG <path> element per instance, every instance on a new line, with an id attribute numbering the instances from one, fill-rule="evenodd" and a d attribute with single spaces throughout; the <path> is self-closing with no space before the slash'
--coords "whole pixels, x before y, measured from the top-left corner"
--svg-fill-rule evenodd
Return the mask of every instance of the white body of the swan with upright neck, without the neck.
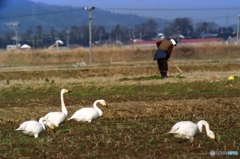
<path id="1" fill-rule="evenodd" d="M 50 112 L 47 115 L 44 116 L 44 118 L 48 119 L 50 122 L 52 122 L 56 127 L 59 126 L 62 122 L 65 121 L 66 115 L 62 112 Z"/>

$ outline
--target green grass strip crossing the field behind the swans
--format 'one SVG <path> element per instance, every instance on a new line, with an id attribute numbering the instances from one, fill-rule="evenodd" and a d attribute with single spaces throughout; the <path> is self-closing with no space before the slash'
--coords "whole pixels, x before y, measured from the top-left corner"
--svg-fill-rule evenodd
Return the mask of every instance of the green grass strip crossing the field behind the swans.
<path id="1" fill-rule="evenodd" d="M 147 77 L 146 77 L 147 78 Z M 151 77 L 153 78 L 153 77 Z M 136 80 L 136 79 L 131 79 Z M 61 86 L 62 87 L 62 86 Z M 12 100 L 16 98 L 47 98 L 59 96 L 61 87 L 57 84 L 44 84 L 39 86 L 12 85 L 0 92 L 0 99 Z M 195 81 L 178 83 L 164 83 L 151 85 L 114 85 L 101 87 L 97 84 L 83 85 L 81 83 L 66 84 L 64 88 L 72 92 L 68 96 L 73 98 L 84 98 L 95 100 L 96 98 L 115 98 L 119 100 L 132 97 L 133 100 L 143 99 L 191 99 L 191 98 L 213 98 L 213 97 L 238 97 L 240 92 L 240 79 L 234 81 Z M 137 98 L 135 98 L 135 96 Z"/>

